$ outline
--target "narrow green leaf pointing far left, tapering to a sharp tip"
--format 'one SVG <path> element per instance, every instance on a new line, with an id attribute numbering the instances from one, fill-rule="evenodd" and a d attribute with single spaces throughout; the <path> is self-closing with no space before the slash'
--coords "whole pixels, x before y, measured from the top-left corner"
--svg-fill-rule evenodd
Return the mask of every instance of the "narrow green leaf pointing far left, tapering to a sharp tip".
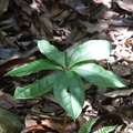
<path id="1" fill-rule="evenodd" d="M 62 68 L 49 59 L 40 59 L 29 64 L 23 64 L 19 68 L 13 69 L 12 71 L 6 73 L 4 76 L 6 75 L 22 76 L 22 75 L 29 75 L 40 70 L 57 70 L 57 69 L 62 69 Z"/>

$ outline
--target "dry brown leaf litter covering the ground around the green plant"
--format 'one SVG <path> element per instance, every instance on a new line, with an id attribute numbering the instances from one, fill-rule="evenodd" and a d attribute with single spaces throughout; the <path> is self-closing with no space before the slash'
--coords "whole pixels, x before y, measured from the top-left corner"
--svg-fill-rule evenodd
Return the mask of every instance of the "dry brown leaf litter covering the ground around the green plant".
<path id="1" fill-rule="evenodd" d="M 51 93 L 33 100 L 12 100 L 18 84 L 31 84 L 35 79 L 48 75 L 49 71 L 22 78 L 2 78 L 21 64 L 44 58 L 37 48 L 40 39 L 49 40 L 60 50 L 69 50 L 86 40 L 111 41 L 113 50 L 110 58 L 96 63 L 121 76 L 129 86 L 98 88 L 84 82 L 86 100 L 82 114 L 76 122 L 68 115 L 66 133 L 76 133 L 85 121 L 99 115 L 104 119 L 95 124 L 93 131 L 106 124 L 117 124 L 115 133 L 133 131 L 132 4 L 132 0 L 1 0 L 0 106 L 22 117 L 22 133 L 62 132 L 64 112 Z"/>

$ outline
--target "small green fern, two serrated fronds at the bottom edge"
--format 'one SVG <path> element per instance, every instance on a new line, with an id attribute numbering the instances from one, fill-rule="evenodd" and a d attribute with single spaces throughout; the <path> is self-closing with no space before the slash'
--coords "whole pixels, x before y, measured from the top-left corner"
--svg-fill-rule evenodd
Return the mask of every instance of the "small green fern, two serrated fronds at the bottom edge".
<path id="1" fill-rule="evenodd" d="M 99 117 L 98 117 L 99 119 Z M 82 127 L 79 130 L 78 133 L 91 133 L 92 126 L 93 124 L 98 121 L 98 119 L 93 119 L 90 120 L 88 122 L 85 122 Z M 111 131 L 113 131 L 116 127 L 116 125 L 113 126 L 104 126 L 93 133 L 110 133 Z"/>

